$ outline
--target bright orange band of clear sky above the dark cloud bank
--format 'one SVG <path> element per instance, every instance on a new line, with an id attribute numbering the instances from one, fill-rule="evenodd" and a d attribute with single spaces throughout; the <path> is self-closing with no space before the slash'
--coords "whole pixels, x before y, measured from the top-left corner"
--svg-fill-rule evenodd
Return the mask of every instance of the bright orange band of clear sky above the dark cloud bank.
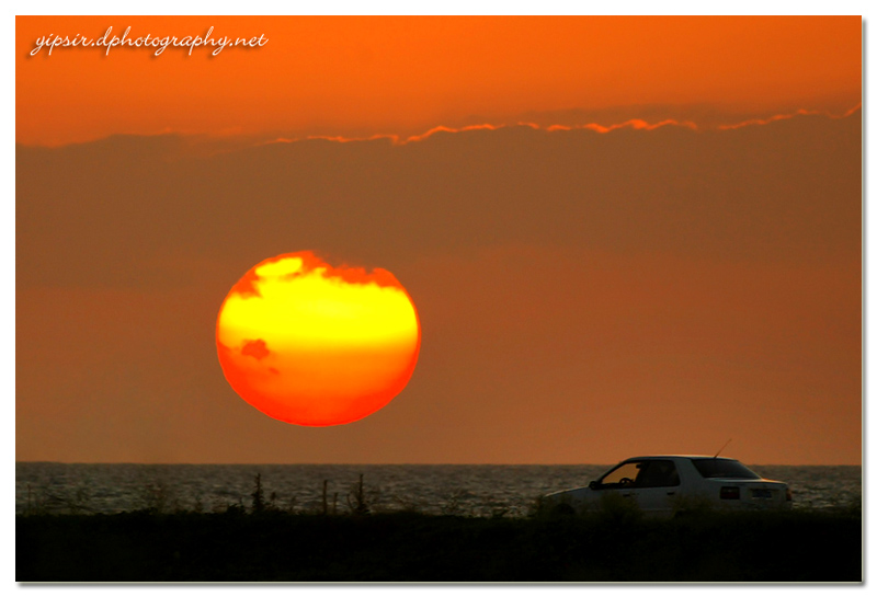
<path id="1" fill-rule="evenodd" d="M 214 38 L 269 42 L 216 57 L 30 56 L 41 36 L 100 37 L 109 26 L 119 36 L 130 26 L 132 37 L 214 26 Z M 16 54 L 16 138 L 41 145 L 116 133 L 417 134 L 625 105 L 844 112 L 861 96 L 857 16 L 19 16 Z"/>

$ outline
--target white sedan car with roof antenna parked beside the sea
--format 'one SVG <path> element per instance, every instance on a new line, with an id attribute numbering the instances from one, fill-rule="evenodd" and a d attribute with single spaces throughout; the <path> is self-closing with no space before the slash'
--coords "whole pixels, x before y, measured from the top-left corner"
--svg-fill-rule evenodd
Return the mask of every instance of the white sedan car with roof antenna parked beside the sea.
<path id="1" fill-rule="evenodd" d="M 550 493 L 543 507 L 556 513 L 599 510 L 607 501 L 629 502 L 647 515 L 669 516 L 694 507 L 786 509 L 786 483 L 762 479 L 739 460 L 711 456 L 628 458 L 586 487 Z"/>

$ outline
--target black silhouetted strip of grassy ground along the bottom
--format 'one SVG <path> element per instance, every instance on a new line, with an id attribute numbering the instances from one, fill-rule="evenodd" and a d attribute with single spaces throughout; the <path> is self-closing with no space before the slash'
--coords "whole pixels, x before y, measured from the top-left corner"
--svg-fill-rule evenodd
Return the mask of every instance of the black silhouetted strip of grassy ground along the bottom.
<path id="1" fill-rule="evenodd" d="M 19 582 L 859 582 L 861 510 L 529 518 L 224 513 L 16 518 Z M 262 503 L 261 507 L 257 504 Z M 328 508 L 327 508 L 328 509 Z"/>

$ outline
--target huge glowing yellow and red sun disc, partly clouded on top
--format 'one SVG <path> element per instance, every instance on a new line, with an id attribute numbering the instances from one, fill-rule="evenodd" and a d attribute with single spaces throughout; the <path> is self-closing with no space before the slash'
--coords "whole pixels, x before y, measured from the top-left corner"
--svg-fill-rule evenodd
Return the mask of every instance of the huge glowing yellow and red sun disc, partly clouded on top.
<path id="1" fill-rule="evenodd" d="M 216 348 L 231 388 L 266 415 L 341 425 L 402 391 L 420 353 L 420 322 L 386 269 L 332 267 L 301 251 L 238 280 L 219 309 Z"/>

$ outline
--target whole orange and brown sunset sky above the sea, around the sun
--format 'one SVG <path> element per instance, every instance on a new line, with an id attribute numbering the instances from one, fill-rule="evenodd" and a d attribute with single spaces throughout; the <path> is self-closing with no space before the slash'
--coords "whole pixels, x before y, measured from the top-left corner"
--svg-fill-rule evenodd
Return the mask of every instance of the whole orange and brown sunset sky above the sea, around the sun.
<path id="1" fill-rule="evenodd" d="M 45 35 L 267 39 L 56 47 Z M 16 460 L 862 461 L 862 19 L 16 18 Z M 255 264 L 390 272 L 408 387 L 229 387 Z"/>

